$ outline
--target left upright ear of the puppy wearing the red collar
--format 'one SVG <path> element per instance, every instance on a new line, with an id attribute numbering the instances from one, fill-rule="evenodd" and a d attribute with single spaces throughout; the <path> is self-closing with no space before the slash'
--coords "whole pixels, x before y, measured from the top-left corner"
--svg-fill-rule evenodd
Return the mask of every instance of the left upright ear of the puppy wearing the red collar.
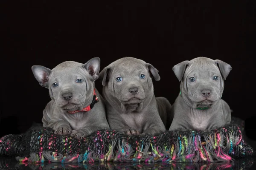
<path id="1" fill-rule="evenodd" d="M 31 69 L 39 84 L 47 88 L 51 70 L 41 65 L 33 65 Z"/>

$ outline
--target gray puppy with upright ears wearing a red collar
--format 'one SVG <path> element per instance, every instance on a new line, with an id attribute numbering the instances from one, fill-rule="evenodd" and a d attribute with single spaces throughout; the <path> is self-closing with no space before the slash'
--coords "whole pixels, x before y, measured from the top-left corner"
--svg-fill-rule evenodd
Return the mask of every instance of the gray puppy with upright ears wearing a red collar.
<path id="1" fill-rule="evenodd" d="M 43 111 L 43 126 L 55 134 L 82 139 L 90 133 L 109 129 L 102 96 L 94 81 L 99 77 L 100 59 L 94 57 L 85 64 L 66 61 L 50 70 L 33 65 L 39 84 L 49 89 L 51 101 Z"/>

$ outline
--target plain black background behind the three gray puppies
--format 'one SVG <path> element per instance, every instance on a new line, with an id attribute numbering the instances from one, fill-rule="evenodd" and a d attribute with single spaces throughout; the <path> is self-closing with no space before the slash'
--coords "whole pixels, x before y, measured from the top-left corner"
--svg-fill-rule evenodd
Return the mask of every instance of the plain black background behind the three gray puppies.
<path id="1" fill-rule="evenodd" d="M 154 65 L 161 80 L 155 95 L 171 103 L 179 93 L 173 65 L 195 57 L 221 59 L 233 70 L 223 99 L 241 119 L 254 116 L 255 68 L 252 38 L 255 1 L 118 0 L 1 1 L 0 136 L 25 132 L 41 122 L 48 90 L 32 65 L 54 68 L 100 57 L 101 70 L 125 56 Z M 102 86 L 96 81 L 96 88 Z"/>

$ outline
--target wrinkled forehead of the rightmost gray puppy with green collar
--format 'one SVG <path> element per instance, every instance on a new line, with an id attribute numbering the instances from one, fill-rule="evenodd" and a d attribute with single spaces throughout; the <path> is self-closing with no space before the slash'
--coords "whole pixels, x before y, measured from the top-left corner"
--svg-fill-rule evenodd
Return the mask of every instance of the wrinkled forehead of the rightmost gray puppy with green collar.
<path id="1" fill-rule="evenodd" d="M 220 74 L 218 66 L 215 62 L 192 62 L 185 71 L 185 76 L 188 74 L 208 75 L 211 73 Z"/>

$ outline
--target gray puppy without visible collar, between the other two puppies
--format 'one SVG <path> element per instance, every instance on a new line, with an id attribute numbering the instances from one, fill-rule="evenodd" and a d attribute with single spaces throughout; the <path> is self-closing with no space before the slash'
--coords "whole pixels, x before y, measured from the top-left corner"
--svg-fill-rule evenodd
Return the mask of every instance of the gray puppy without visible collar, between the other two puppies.
<path id="1" fill-rule="evenodd" d="M 164 97 L 154 96 L 151 77 L 159 81 L 160 76 L 153 65 L 123 57 L 105 67 L 99 77 L 111 129 L 128 135 L 166 130 L 161 118 L 166 122 L 171 104 Z"/>

